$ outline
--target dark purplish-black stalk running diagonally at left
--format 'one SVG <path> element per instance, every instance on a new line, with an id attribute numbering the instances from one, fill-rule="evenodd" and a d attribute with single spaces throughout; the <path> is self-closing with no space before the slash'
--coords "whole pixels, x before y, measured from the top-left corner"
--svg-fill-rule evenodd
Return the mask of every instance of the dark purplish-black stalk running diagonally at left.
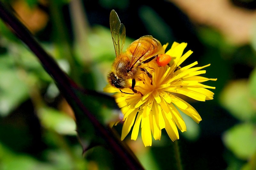
<path id="1" fill-rule="evenodd" d="M 111 130 L 100 124 L 100 122 L 85 108 L 82 101 L 72 90 L 74 88 L 79 88 L 77 84 L 60 69 L 56 61 L 48 53 L 45 52 L 45 50 L 33 37 L 31 32 L 29 32 L 28 29 L 22 23 L 20 23 L 20 21 L 1 1 L 0 18 L 6 23 L 12 32 L 21 41 L 23 41 L 37 56 L 42 66 L 46 72 L 52 76 L 52 79 L 56 82 L 60 92 L 66 98 L 71 107 L 73 107 L 73 103 L 76 103 L 76 107 L 82 111 L 84 116 L 86 116 L 92 122 L 95 130 L 97 131 L 97 134 L 105 140 L 108 148 L 111 149 L 112 152 L 115 153 L 117 157 L 126 164 L 127 169 L 143 169 L 138 159 L 130 151 L 130 149 L 124 143 L 122 143 L 120 139 L 111 132 Z M 84 92 L 92 93 L 92 91 L 87 90 L 84 90 Z M 96 92 L 93 93 L 97 94 Z"/>

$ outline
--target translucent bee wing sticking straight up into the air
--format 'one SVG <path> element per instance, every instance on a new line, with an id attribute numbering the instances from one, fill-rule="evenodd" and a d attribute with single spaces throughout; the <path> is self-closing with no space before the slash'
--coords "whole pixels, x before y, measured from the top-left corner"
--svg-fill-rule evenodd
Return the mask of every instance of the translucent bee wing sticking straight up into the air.
<path id="1" fill-rule="evenodd" d="M 110 32 L 115 47 L 116 57 L 123 51 L 125 42 L 125 27 L 121 24 L 116 11 L 112 10 L 109 16 Z"/>

